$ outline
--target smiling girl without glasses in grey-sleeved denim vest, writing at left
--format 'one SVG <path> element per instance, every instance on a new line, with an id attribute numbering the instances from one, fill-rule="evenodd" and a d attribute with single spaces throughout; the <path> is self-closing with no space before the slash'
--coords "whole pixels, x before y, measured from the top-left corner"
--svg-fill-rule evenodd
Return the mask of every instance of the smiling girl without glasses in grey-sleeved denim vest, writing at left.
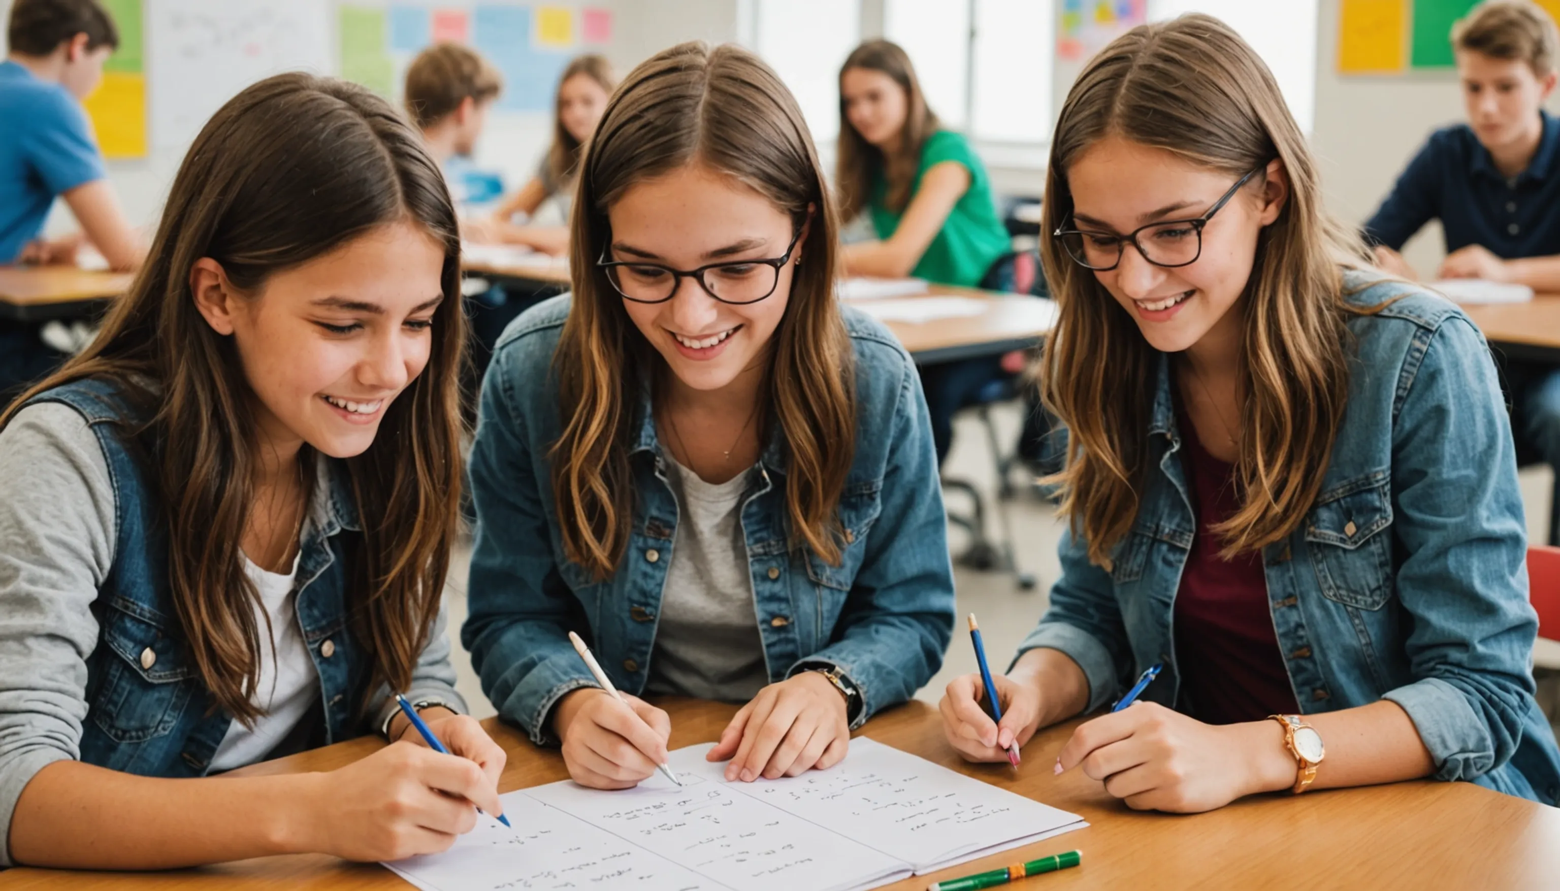
<path id="1" fill-rule="evenodd" d="M 0 415 L 0 863 L 399 858 L 499 813 L 440 609 L 459 247 L 363 87 L 278 75 L 201 130 L 136 286 Z M 368 732 L 396 743 L 215 777 Z"/>

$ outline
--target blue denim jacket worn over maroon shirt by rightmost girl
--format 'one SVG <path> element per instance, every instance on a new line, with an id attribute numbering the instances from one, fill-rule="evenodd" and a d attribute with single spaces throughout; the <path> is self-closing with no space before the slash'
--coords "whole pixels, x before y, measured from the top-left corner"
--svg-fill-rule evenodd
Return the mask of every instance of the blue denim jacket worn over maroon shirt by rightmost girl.
<path id="1" fill-rule="evenodd" d="M 1560 752 L 1533 701 L 1538 619 L 1512 429 L 1488 346 L 1423 289 L 1348 273 L 1349 398 L 1315 506 L 1262 554 L 1268 605 L 1306 713 L 1390 699 L 1443 780 L 1555 804 Z M 1195 513 L 1178 451 L 1168 359 L 1148 428 L 1137 521 L 1111 568 L 1062 537 L 1062 577 L 1019 652 L 1059 649 L 1089 679 L 1089 710 L 1156 662 L 1145 699 L 1179 693 L 1172 616 Z M 1323 766 L 1323 769 L 1326 769 Z"/>

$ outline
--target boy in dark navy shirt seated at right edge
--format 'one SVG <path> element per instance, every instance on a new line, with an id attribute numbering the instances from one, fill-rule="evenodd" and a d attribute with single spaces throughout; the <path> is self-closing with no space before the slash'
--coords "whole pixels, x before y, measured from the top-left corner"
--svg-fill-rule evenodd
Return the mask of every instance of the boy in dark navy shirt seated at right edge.
<path id="1" fill-rule="evenodd" d="M 1431 134 L 1365 223 L 1376 262 L 1418 278 L 1398 251 L 1440 218 L 1435 278 L 1560 290 L 1560 120 L 1543 111 L 1560 62 L 1555 23 L 1530 0 L 1488 0 L 1457 22 L 1452 47 L 1468 123 Z M 1560 370 L 1510 360 L 1504 373 L 1519 456 L 1560 471 Z M 1549 543 L 1560 543 L 1560 474 Z"/>

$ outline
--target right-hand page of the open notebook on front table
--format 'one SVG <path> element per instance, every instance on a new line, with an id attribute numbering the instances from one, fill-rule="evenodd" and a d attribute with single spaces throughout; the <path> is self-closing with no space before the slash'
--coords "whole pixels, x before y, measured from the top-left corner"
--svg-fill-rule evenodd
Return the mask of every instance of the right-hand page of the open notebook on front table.
<path id="1" fill-rule="evenodd" d="M 850 755 L 827 771 L 733 785 L 903 860 L 917 875 L 1084 825 L 1075 813 L 864 737 L 852 740 Z"/>

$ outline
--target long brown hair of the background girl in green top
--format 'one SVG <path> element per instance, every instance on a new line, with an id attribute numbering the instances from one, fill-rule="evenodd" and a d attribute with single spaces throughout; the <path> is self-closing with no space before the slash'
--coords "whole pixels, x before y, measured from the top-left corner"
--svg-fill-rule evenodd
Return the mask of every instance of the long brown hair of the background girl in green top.
<path id="1" fill-rule="evenodd" d="M 846 117 L 846 97 L 841 92 L 839 140 L 835 150 L 839 218 L 853 220 L 867 206 L 867 201 L 872 200 L 872 176 L 878 172 L 888 181 L 885 204 L 891 211 L 903 211 L 909 204 L 909 187 L 916 179 L 916 169 L 920 165 L 920 148 L 941 123 L 938 115 L 931 112 L 931 106 L 927 105 L 927 94 L 920 92 L 920 80 L 916 78 L 916 67 L 909 64 L 909 55 L 899 44 L 891 41 L 861 44 L 846 56 L 846 64 L 839 66 L 841 83 L 850 69 L 883 72 L 894 78 L 894 83 L 905 91 L 906 111 L 899 150 L 892 158 L 885 158 L 883 150 L 863 139 L 850 119 Z"/>

